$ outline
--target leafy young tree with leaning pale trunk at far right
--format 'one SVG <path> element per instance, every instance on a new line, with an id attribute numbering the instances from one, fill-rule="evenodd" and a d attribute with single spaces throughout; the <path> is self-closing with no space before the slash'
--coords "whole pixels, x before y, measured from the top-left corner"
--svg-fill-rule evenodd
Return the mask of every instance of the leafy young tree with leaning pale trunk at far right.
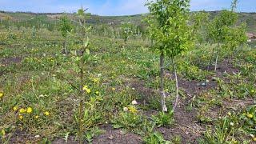
<path id="1" fill-rule="evenodd" d="M 237 0 L 234 0 L 234 2 L 232 2 L 231 10 L 222 10 L 209 24 L 209 37 L 214 42 L 218 43 L 215 50 L 216 57 L 214 71 L 217 70 L 218 57 L 222 45 L 234 50 L 234 48 L 246 42 L 245 24 L 242 24 L 242 26 L 235 26 L 238 22 L 238 14 L 235 13 L 237 2 Z"/>

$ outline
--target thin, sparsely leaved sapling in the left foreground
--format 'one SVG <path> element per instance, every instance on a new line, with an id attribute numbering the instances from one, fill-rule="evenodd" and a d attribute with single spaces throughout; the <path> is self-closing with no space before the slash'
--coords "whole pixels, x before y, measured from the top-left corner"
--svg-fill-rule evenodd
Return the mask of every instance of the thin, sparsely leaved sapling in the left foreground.
<path id="1" fill-rule="evenodd" d="M 78 104 L 78 116 L 75 114 L 75 120 L 78 122 L 78 138 L 79 138 L 79 143 L 83 143 L 83 134 L 86 131 L 86 121 L 83 120 L 83 118 L 86 118 L 86 112 L 85 112 L 85 103 L 86 103 L 86 98 L 88 98 L 90 94 L 90 89 L 84 86 L 85 82 L 85 68 L 86 64 L 90 61 L 90 50 L 89 50 L 89 38 L 88 38 L 88 33 L 89 30 L 91 29 L 91 26 L 86 25 L 86 10 L 83 8 L 78 10 L 78 13 L 75 14 L 75 20 L 72 20 L 72 22 L 76 23 L 76 27 L 78 30 L 74 32 L 74 30 L 67 31 L 67 29 L 63 29 L 64 36 L 66 37 L 67 35 L 70 36 L 70 40 L 75 40 L 78 41 L 78 49 L 71 51 L 71 59 L 72 62 L 74 62 L 75 66 L 77 66 L 75 70 L 76 75 L 78 75 L 78 86 L 77 84 L 74 84 L 74 82 L 70 81 L 69 79 L 62 77 L 66 79 L 66 81 L 74 87 L 76 90 L 78 90 L 78 96 L 79 96 L 79 104 Z M 63 21 L 64 23 L 66 22 Z M 67 25 L 66 25 L 67 26 Z M 65 27 L 63 25 L 63 27 Z"/>

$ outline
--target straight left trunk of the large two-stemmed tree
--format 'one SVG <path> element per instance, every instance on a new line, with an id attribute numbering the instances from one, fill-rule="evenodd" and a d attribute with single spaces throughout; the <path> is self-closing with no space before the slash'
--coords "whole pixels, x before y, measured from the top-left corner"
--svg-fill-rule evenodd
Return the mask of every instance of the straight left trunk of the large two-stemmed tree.
<path id="1" fill-rule="evenodd" d="M 161 106 L 162 106 L 162 111 L 166 112 L 167 107 L 166 107 L 166 95 L 164 92 L 164 58 L 165 55 L 162 52 L 160 55 L 160 94 L 161 94 Z"/>

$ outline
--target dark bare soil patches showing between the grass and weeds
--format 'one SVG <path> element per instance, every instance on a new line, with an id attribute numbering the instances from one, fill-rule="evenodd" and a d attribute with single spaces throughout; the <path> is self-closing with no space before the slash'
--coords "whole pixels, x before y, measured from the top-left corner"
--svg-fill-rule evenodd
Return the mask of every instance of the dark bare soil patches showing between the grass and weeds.
<path id="1" fill-rule="evenodd" d="M 6 60 L 8 62 L 18 62 L 18 59 L 9 59 Z M 210 68 L 210 70 L 213 70 L 213 68 Z M 178 102 L 178 107 L 175 110 L 174 113 L 174 119 L 175 124 L 173 126 L 170 126 L 170 128 L 166 127 L 159 127 L 156 130 L 161 132 L 167 140 L 170 140 L 174 138 L 174 136 L 181 136 L 182 137 L 182 143 L 198 143 L 198 138 L 202 137 L 202 134 L 205 131 L 205 125 L 198 122 L 197 114 L 198 111 L 196 109 L 194 110 L 186 110 L 187 104 L 191 102 L 191 99 L 198 96 L 198 94 L 202 94 L 207 92 L 208 90 L 217 89 L 217 82 L 214 81 L 213 77 L 223 78 L 223 74 L 233 74 L 238 73 L 238 69 L 235 68 L 230 62 L 224 61 L 219 63 L 217 72 L 212 76 L 209 77 L 210 82 L 207 82 L 206 86 L 202 86 L 202 82 L 197 81 L 188 81 L 184 78 L 178 78 L 178 85 L 182 88 L 182 90 L 186 93 L 186 98 L 180 98 Z M 166 73 L 166 77 L 173 79 L 172 74 Z M 126 85 L 134 87 L 136 92 L 138 94 L 142 94 L 142 97 L 146 101 L 146 98 L 155 94 L 158 94 L 158 91 L 147 88 L 145 85 L 145 82 L 142 81 L 131 81 L 130 83 L 126 83 Z M 144 101 L 143 100 L 143 101 Z M 140 102 L 140 104 L 143 104 L 143 101 Z M 216 117 L 219 113 L 221 113 L 220 110 L 238 110 L 241 108 L 245 108 L 246 106 L 249 106 L 251 104 L 254 104 L 254 99 L 247 98 L 246 100 L 226 100 L 225 102 L 222 102 L 222 106 L 215 107 L 211 112 L 212 115 Z M 157 111 L 155 110 L 149 110 L 146 111 L 143 114 L 146 114 L 150 116 L 151 114 L 156 114 Z M 95 137 L 93 140 L 93 143 L 109 143 L 109 144 L 137 144 L 142 143 L 142 137 L 138 134 L 133 133 L 124 133 L 122 130 L 114 130 L 110 125 L 104 125 L 101 126 L 102 130 L 105 130 L 106 132 L 104 134 L 100 134 L 99 136 Z M 13 138 L 11 138 L 11 142 L 22 142 L 18 141 L 15 138 L 15 136 L 20 137 L 20 134 L 14 134 Z M 30 138 L 29 135 L 25 135 L 25 138 Z M 15 141 L 14 141 L 15 140 Z M 24 142 L 24 141 L 23 141 Z M 78 141 L 75 140 L 74 137 L 70 137 L 67 142 L 63 140 L 62 138 L 56 138 L 52 143 L 54 144 L 62 144 L 62 143 L 78 143 Z"/>

